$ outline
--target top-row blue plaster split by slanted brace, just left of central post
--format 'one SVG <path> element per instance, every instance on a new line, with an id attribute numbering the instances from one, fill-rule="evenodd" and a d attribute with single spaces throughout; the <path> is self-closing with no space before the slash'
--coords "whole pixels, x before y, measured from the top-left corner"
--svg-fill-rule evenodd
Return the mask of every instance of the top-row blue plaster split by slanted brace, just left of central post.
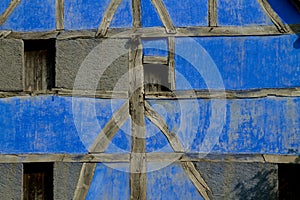
<path id="1" fill-rule="evenodd" d="M 97 29 L 110 0 L 65 1 L 65 29 Z M 118 7 L 110 27 L 132 27 L 131 1 L 123 0 Z"/>

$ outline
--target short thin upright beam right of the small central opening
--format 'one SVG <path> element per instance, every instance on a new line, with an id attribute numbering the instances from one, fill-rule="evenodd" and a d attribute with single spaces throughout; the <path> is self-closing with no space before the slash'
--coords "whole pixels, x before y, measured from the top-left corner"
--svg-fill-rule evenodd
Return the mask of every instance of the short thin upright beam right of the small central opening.
<path id="1" fill-rule="evenodd" d="M 168 37 L 168 81 L 170 83 L 170 89 L 173 91 L 176 89 L 175 85 L 175 38 Z"/>

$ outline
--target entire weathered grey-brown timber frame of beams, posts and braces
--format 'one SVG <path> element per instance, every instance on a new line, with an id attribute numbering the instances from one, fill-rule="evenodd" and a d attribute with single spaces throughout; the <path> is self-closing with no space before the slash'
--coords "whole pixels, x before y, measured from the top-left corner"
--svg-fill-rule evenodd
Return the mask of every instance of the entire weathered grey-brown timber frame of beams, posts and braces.
<path id="1" fill-rule="evenodd" d="M 13 12 L 21 0 L 12 0 L 7 10 L 0 15 L 0 25 Z M 99 162 L 125 162 L 130 164 L 130 199 L 146 199 L 146 162 L 174 161 L 181 164 L 198 192 L 204 199 L 210 199 L 211 190 L 205 183 L 201 174 L 196 170 L 193 162 L 259 162 L 259 163 L 300 163 L 300 156 L 284 155 L 202 155 L 185 153 L 180 140 L 175 133 L 171 133 L 167 123 L 156 113 L 147 102 L 149 99 L 242 99 L 263 98 L 268 96 L 300 97 L 300 88 L 289 89 L 261 89 L 243 91 L 174 91 L 175 69 L 174 52 L 176 37 L 202 37 L 202 36 L 268 36 L 293 34 L 300 32 L 300 24 L 285 25 L 274 12 L 267 0 L 257 0 L 264 12 L 270 17 L 273 26 L 232 27 L 218 26 L 217 0 L 208 0 L 208 26 L 206 27 L 175 27 L 162 0 L 151 0 L 164 27 L 142 28 L 141 2 L 132 0 L 133 24 L 130 29 L 109 28 L 113 16 L 122 0 L 111 0 L 104 13 L 97 30 L 90 31 L 63 31 L 64 30 L 64 0 L 56 0 L 56 31 L 41 33 L 21 33 L 0 31 L 0 38 L 17 39 L 77 39 L 77 38 L 128 38 L 129 49 L 129 92 L 109 91 L 72 91 L 66 89 L 53 89 L 43 92 L 0 92 L 0 98 L 26 95 L 59 95 L 84 96 L 94 98 L 126 98 L 121 108 L 114 113 L 110 121 L 104 126 L 86 155 L 68 154 L 30 154 L 30 155 L 0 155 L 0 163 L 27 163 L 27 162 L 82 162 L 80 178 L 74 192 L 73 199 L 85 199 L 92 183 L 94 172 Z M 168 57 L 143 56 L 142 38 L 167 38 Z M 164 64 L 169 67 L 168 81 L 172 92 L 145 93 L 143 79 L 143 63 Z M 147 117 L 158 127 L 173 148 L 174 153 L 147 153 L 145 152 L 145 121 Z M 128 154 L 104 153 L 112 138 L 127 119 L 132 122 L 132 148 Z"/>

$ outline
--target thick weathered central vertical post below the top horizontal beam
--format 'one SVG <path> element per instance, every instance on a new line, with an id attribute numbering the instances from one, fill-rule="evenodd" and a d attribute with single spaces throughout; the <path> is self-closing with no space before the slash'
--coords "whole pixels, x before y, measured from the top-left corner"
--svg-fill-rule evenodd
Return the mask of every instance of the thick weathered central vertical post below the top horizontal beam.
<path id="1" fill-rule="evenodd" d="M 140 38 L 131 40 L 129 52 L 130 115 L 132 146 L 130 154 L 130 199 L 146 199 L 146 130 L 144 120 L 144 69 Z"/>

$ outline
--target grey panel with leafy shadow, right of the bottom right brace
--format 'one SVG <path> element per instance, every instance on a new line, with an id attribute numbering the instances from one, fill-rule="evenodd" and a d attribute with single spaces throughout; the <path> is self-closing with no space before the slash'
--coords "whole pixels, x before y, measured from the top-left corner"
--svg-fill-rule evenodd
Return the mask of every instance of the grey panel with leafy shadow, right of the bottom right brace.
<path id="1" fill-rule="evenodd" d="M 264 163 L 196 163 L 213 199 L 278 199 L 278 166 Z"/>

